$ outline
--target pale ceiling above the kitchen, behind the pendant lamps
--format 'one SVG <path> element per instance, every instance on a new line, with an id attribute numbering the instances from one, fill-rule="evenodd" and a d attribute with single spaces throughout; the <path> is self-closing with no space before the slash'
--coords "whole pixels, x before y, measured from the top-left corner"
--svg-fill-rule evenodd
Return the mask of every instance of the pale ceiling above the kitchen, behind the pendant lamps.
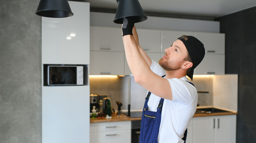
<path id="1" fill-rule="evenodd" d="M 90 2 L 91 8 L 117 9 L 116 0 L 75 0 Z M 255 7 L 256 0 L 139 0 L 144 12 L 182 14 L 217 18 Z"/>

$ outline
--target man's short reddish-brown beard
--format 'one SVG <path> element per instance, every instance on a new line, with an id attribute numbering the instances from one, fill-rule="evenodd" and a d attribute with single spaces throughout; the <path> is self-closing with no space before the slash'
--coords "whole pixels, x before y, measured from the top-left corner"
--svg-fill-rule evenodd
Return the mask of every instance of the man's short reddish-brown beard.
<path id="1" fill-rule="evenodd" d="M 158 61 L 159 65 L 165 70 L 165 71 L 175 71 L 179 70 L 181 68 L 181 65 L 183 61 L 174 62 L 174 61 L 163 61 L 163 58 L 161 58 Z"/>

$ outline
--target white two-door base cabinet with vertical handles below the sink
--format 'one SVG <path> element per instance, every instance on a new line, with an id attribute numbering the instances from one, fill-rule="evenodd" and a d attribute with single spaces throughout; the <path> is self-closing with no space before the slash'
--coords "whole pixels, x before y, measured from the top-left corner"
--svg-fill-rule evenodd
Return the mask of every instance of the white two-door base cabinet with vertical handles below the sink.
<path id="1" fill-rule="evenodd" d="M 235 143 L 236 115 L 195 117 L 193 143 Z"/>

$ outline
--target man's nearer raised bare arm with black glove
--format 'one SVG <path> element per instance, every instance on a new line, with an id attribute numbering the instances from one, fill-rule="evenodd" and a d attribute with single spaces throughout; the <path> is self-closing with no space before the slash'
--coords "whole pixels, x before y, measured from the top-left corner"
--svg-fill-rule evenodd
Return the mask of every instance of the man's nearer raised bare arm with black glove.
<path id="1" fill-rule="evenodd" d="M 133 24 L 128 26 L 132 28 Z M 142 49 L 139 48 L 139 43 L 136 42 L 136 39 L 134 38 L 135 35 L 133 36 L 132 33 L 132 29 L 129 30 L 125 28 L 122 28 L 124 50 L 127 63 L 133 73 L 135 81 L 153 94 L 164 99 L 172 100 L 172 90 L 169 81 L 151 71 L 146 61 L 146 59 L 148 60 L 150 58 L 145 59 L 142 56 Z"/>

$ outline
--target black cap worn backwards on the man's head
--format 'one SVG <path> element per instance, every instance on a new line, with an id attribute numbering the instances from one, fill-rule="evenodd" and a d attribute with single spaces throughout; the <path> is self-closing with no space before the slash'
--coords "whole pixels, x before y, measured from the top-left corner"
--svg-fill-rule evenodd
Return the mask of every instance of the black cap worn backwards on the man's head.
<path id="1" fill-rule="evenodd" d="M 205 55 L 205 49 L 203 47 L 203 43 L 196 39 L 193 36 L 187 36 L 188 39 L 185 40 L 182 37 L 178 38 L 183 42 L 185 47 L 187 48 L 188 54 L 192 60 L 193 66 L 191 72 L 187 74 L 191 80 L 193 80 L 194 69 L 201 63 L 203 57 Z"/>

